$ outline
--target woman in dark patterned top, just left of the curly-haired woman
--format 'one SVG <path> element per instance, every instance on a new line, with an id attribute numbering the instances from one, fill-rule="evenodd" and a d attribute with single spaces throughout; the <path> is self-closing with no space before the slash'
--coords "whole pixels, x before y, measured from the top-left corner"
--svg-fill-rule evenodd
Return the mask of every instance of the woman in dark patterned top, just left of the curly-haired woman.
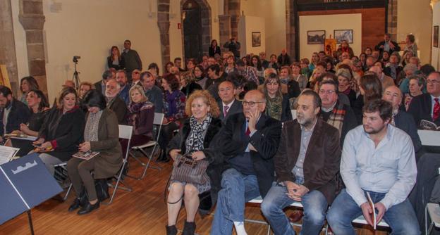
<path id="1" fill-rule="evenodd" d="M 169 155 L 166 154 L 166 146 L 168 146 L 173 132 L 179 129 L 181 123 L 186 118 L 185 115 L 185 94 L 179 88 L 179 81 L 176 75 L 166 75 L 162 78 L 162 87 L 164 88 L 164 120 L 161 129 L 159 146 L 161 147 L 161 155 L 158 160 L 169 162 Z"/>

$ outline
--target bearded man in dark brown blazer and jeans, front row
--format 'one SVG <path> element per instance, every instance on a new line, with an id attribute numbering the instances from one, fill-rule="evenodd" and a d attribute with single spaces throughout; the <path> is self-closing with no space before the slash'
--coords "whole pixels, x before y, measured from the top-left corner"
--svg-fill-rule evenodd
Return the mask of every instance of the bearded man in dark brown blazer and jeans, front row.
<path id="1" fill-rule="evenodd" d="M 275 234 L 295 234 L 283 212 L 294 201 L 301 201 L 304 207 L 301 234 L 319 234 L 327 207 L 334 200 L 341 161 L 339 132 L 318 118 L 320 109 L 319 96 L 303 91 L 297 119 L 284 123 L 274 157 L 278 183 L 261 206 Z"/>

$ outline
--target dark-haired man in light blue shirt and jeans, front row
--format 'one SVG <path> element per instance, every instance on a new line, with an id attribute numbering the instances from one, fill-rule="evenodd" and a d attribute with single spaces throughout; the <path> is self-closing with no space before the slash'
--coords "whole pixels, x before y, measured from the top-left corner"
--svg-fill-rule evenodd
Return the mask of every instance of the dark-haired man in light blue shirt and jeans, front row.
<path id="1" fill-rule="evenodd" d="M 417 175 L 411 138 L 390 124 L 391 103 L 372 100 L 362 112 L 363 125 L 348 132 L 343 144 L 341 176 L 346 189 L 331 205 L 327 222 L 335 234 L 355 234 L 351 222 L 364 215 L 372 226 L 384 219 L 392 234 L 420 234 L 407 198 Z M 367 201 L 367 192 L 374 208 Z"/>

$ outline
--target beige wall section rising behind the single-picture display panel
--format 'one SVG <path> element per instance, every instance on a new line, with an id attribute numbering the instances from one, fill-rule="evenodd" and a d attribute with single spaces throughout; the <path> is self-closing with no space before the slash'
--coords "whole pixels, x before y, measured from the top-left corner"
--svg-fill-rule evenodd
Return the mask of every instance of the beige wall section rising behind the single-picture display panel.
<path id="1" fill-rule="evenodd" d="M 264 18 L 267 58 L 286 48 L 286 0 L 241 0 L 240 9 L 247 16 Z M 241 39 L 239 39 L 241 40 Z M 244 55 L 244 53 L 243 53 Z"/>

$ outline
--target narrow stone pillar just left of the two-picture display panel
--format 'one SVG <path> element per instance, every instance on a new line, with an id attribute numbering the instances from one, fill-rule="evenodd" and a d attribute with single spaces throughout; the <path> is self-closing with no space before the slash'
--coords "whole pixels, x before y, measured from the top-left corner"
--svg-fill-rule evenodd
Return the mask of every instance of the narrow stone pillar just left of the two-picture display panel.
<path id="1" fill-rule="evenodd" d="M 291 58 L 298 61 L 298 10 L 296 8 L 296 0 L 286 0 L 286 50 Z"/>

